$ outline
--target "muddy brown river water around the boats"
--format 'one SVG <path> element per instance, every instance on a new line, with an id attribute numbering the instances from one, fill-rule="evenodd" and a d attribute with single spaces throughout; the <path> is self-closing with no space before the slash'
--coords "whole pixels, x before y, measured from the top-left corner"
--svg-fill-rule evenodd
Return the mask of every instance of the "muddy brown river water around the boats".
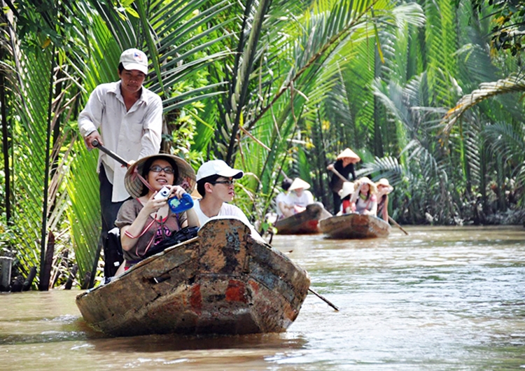
<path id="1" fill-rule="evenodd" d="M 405 228 L 388 239 L 276 236 L 311 288 L 287 332 L 108 338 L 79 290 L 0 295 L 0 370 L 518 370 L 525 230 Z"/>

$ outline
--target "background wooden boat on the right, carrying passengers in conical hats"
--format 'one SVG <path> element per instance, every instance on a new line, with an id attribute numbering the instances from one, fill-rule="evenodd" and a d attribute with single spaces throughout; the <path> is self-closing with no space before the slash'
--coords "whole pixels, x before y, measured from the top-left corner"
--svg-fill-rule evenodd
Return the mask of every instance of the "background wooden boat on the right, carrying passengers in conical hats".
<path id="1" fill-rule="evenodd" d="M 332 239 L 365 239 L 388 237 L 391 226 L 376 216 L 346 214 L 319 222 L 319 228 Z"/>

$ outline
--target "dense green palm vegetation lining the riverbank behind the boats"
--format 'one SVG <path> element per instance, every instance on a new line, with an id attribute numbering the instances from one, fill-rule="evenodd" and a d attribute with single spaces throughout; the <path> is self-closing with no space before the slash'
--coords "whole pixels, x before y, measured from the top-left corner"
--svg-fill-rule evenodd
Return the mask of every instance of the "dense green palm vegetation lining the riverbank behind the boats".
<path id="1" fill-rule="evenodd" d="M 162 151 L 244 169 L 236 203 L 253 221 L 283 174 L 329 206 L 326 166 L 347 146 L 358 174 L 391 181 L 400 223 L 523 220 L 523 7 L 512 1 L 4 3 L 0 255 L 21 274 L 53 246 L 52 282 L 73 263 L 92 281 L 97 153 L 76 117 L 130 47 L 152 62 Z"/>

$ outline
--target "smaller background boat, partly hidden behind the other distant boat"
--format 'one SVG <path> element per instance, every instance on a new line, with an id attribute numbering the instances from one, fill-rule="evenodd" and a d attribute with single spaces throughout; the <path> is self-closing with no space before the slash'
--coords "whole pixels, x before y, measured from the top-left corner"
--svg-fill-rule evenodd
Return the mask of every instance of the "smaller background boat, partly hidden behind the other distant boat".
<path id="1" fill-rule="evenodd" d="M 319 221 L 332 216 L 321 204 L 309 204 L 302 213 L 276 221 L 279 235 L 313 235 L 321 233 Z"/>

